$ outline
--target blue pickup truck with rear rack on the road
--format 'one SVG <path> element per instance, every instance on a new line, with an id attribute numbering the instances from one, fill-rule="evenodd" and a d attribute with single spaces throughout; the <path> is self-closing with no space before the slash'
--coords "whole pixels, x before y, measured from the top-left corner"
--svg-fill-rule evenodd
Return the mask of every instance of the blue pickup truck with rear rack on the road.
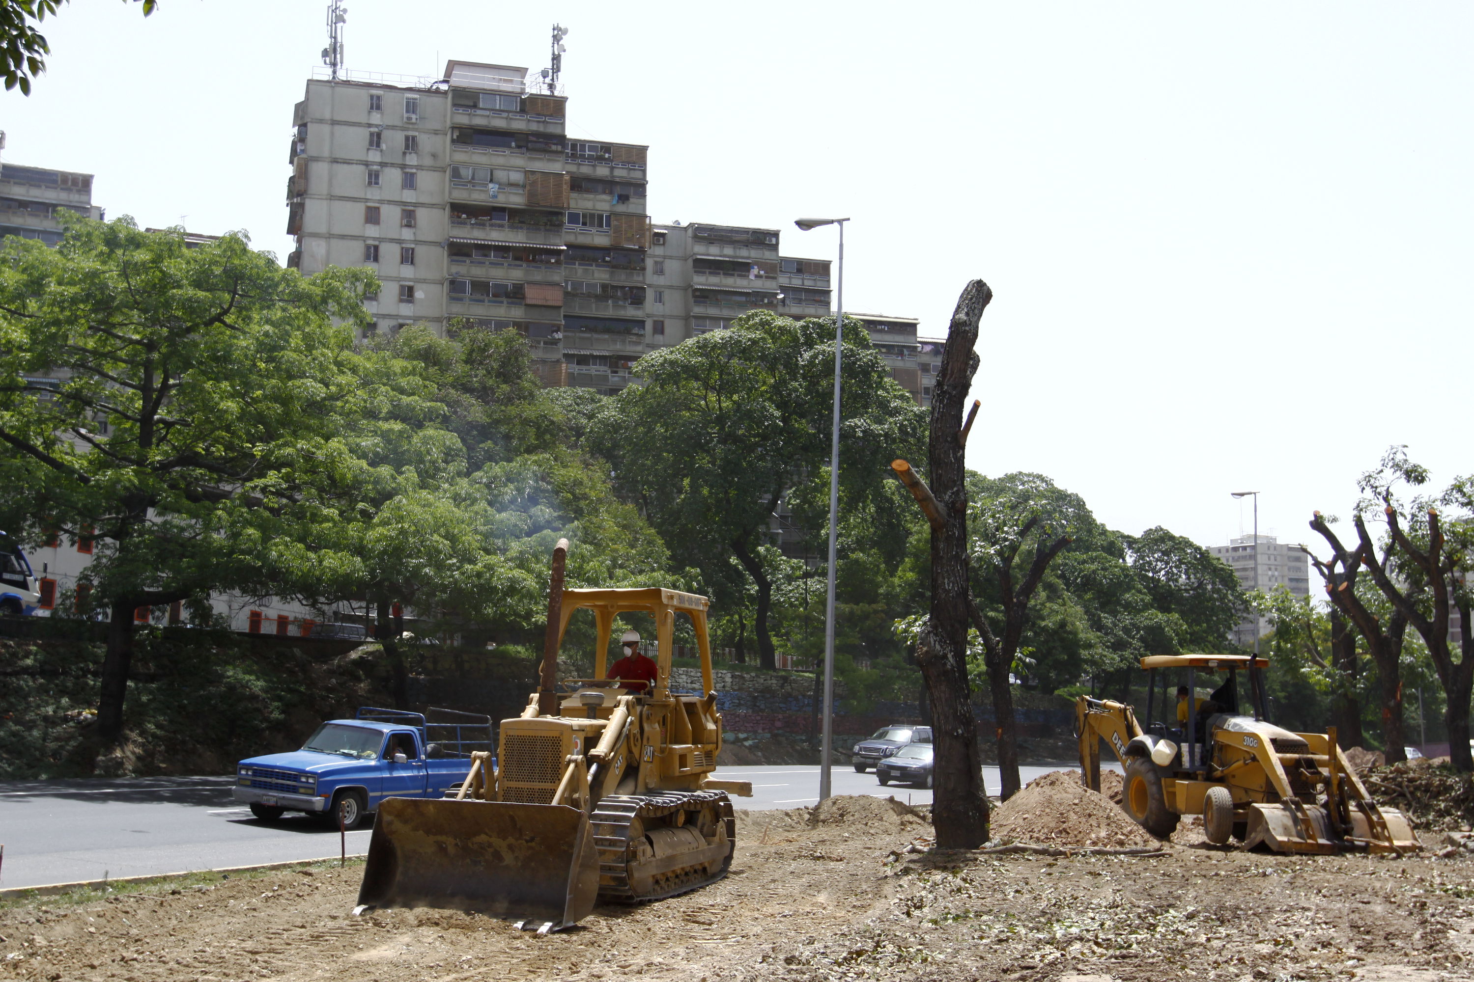
<path id="1" fill-rule="evenodd" d="M 491 717 L 454 710 L 422 713 L 363 707 L 352 720 L 327 720 L 287 754 L 236 766 L 236 801 L 276 822 L 305 811 L 346 827 L 363 824 L 385 798 L 442 798 L 470 771 L 473 751 L 491 751 Z"/>

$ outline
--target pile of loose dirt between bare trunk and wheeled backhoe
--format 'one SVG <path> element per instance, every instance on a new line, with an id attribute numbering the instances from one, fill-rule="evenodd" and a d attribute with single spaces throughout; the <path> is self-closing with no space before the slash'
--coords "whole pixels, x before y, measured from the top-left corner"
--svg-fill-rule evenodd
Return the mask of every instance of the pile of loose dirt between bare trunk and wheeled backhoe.
<path id="1" fill-rule="evenodd" d="M 1111 773 L 1101 789 L 1120 794 L 1120 776 Z M 1145 848 L 1162 845 L 1139 824 L 1126 817 L 1106 794 L 1080 783 L 1073 770 L 1055 770 L 1029 782 L 1029 786 L 993 810 L 992 836 L 1033 845 L 1100 848 Z"/>

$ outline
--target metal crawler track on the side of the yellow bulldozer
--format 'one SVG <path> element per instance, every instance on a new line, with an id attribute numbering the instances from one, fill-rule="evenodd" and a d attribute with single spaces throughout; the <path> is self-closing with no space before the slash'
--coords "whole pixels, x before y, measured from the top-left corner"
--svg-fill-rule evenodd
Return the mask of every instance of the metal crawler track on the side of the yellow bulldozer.
<path id="1" fill-rule="evenodd" d="M 637 894 L 629 885 L 629 829 L 635 819 L 662 819 L 682 808 L 716 805 L 718 819 L 727 826 L 727 842 L 737 845 L 737 819 L 725 791 L 666 791 L 649 795 L 607 795 L 594 807 L 591 819 L 594 847 L 598 849 L 598 895 L 625 904 L 641 904 L 663 897 L 675 897 L 687 891 L 715 883 L 727 876 L 731 866 L 731 851 L 715 875 L 708 875 L 702 864 L 682 866 L 654 877 L 654 889 Z"/>

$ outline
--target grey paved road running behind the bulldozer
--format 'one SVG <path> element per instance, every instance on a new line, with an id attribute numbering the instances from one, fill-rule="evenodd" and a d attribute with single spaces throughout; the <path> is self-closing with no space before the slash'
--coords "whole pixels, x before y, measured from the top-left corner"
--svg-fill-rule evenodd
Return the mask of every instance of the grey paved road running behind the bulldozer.
<path id="1" fill-rule="evenodd" d="M 1055 767 L 1023 767 L 1024 782 Z M 818 799 L 818 767 L 722 769 L 753 783 L 740 808 L 800 808 Z M 998 794 L 998 769 L 983 777 Z M 338 832 L 305 816 L 274 824 L 230 798 L 231 777 L 0 782 L 0 889 L 125 876 L 155 876 L 338 855 Z M 849 767 L 833 771 L 836 795 L 895 795 L 929 804 L 932 792 L 890 785 Z M 368 832 L 348 833 L 348 852 L 368 849 Z"/>

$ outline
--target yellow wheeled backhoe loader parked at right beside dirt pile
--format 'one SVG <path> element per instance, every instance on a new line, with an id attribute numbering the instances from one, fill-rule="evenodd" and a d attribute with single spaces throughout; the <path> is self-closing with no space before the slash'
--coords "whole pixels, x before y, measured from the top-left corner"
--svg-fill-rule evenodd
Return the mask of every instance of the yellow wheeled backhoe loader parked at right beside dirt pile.
<path id="1" fill-rule="evenodd" d="M 1327 733 L 1291 733 L 1269 723 L 1263 674 L 1254 655 L 1153 655 L 1141 660 L 1147 724 L 1132 707 L 1079 696 L 1075 704 L 1082 780 L 1101 789 L 1100 745 L 1126 771 L 1122 808 L 1166 839 L 1182 816 L 1203 816 L 1209 842 L 1238 839 L 1275 852 L 1405 852 L 1421 848 L 1408 817 L 1381 808 Z M 1157 673 L 1185 676 L 1185 698 L 1170 698 L 1163 677 L 1162 720 L 1153 718 Z M 1237 676 L 1248 676 L 1250 713 L 1240 711 Z M 1225 679 L 1200 698 L 1198 673 Z M 1182 702 L 1181 711 L 1166 705 Z"/>

